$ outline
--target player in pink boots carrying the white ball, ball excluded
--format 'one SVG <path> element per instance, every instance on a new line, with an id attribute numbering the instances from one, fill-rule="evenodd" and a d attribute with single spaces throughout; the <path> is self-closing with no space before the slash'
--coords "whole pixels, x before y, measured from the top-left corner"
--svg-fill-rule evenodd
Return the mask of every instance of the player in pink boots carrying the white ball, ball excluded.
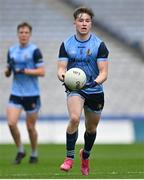
<path id="1" fill-rule="evenodd" d="M 69 123 L 66 130 L 66 159 L 61 170 L 69 171 L 74 163 L 75 143 L 82 110 L 85 115 L 84 147 L 80 150 L 81 172 L 89 174 L 89 156 L 96 138 L 96 130 L 104 106 L 103 82 L 108 76 L 108 49 L 91 32 L 93 12 L 86 7 L 74 11 L 76 34 L 62 42 L 58 59 L 58 78 L 64 82 L 67 70 L 81 68 L 87 76 L 82 90 L 70 91 L 66 87 Z"/>

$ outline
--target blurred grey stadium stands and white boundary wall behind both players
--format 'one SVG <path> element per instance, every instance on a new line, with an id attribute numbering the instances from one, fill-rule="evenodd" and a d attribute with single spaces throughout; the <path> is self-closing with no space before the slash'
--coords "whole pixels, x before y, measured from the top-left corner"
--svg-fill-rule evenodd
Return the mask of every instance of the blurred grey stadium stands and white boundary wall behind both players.
<path id="1" fill-rule="evenodd" d="M 22 21 L 32 24 L 32 41 L 41 48 L 46 66 L 46 77 L 40 79 L 39 142 L 65 142 L 66 97 L 57 80 L 56 61 L 61 42 L 74 32 L 72 13 L 78 5 L 93 8 L 93 31 L 110 51 L 109 78 L 104 84 L 106 103 L 96 142 L 144 142 L 143 0 L 0 0 L 0 143 L 13 143 L 5 115 L 11 78 L 4 77 L 4 68 L 7 48 L 16 42 L 16 26 Z M 27 143 L 23 119 L 24 114 L 19 126 Z M 83 127 L 82 117 L 79 131 Z M 82 141 L 81 136 L 78 142 Z"/>

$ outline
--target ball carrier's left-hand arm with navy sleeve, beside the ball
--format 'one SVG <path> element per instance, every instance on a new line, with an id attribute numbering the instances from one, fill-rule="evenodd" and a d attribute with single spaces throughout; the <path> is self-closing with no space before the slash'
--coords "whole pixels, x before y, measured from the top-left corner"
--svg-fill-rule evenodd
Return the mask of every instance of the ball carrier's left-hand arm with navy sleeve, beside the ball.
<path id="1" fill-rule="evenodd" d="M 65 73 L 67 71 L 68 55 L 65 50 L 64 43 L 61 44 L 59 50 L 59 60 L 57 63 L 57 76 L 58 79 L 64 82 Z"/>

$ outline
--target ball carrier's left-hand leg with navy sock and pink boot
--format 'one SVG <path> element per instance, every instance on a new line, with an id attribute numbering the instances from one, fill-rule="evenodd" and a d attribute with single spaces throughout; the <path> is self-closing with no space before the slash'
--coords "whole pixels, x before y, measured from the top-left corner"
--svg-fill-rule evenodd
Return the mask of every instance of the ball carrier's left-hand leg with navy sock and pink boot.
<path id="1" fill-rule="evenodd" d="M 80 121 L 80 115 L 82 112 L 84 100 L 80 96 L 68 97 L 68 111 L 69 111 L 69 124 L 66 133 L 66 151 L 67 156 L 64 162 L 61 164 L 60 169 L 63 171 L 69 171 L 74 163 L 74 150 L 75 143 L 78 137 L 78 125 Z"/>

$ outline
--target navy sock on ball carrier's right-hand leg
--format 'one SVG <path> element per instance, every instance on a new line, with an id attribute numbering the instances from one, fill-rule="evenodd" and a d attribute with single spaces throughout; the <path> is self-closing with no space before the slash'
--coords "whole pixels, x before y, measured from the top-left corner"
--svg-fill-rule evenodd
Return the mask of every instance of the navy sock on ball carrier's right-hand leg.
<path id="1" fill-rule="evenodd" d="M 92 149 L 92 146 L 94 144 L 96 138 L 96 133 L 90 134 L 88 132 L 85 132 L 84 134 L 84 150 L 83 150 L 83 159 L 88 159 L 90 156 L 90 151 Z"/>

